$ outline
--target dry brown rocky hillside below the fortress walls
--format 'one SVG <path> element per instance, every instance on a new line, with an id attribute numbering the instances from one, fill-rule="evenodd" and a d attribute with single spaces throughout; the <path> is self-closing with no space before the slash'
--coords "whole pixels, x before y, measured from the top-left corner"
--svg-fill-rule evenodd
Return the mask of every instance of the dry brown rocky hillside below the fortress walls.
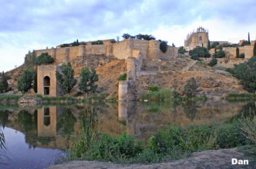
<path id="1" fill-rule="evenodd" d="M 171 59 L 144 59 L 142 65 L 143 75 L 136 79 L 138 97 L 147 91 L 147 86 L 157 85 L 160 89 L 175 89 L 182 92 L 187 80 L 195 77 L 199 84 L 198 96 L 206 95 L 208 98 L 225 97 L 228 93 L 246 93 L 238 80 L 218 67 L 207 66 L 204 62 L 197 62 L 187 70 L 194 60 L 189 58 Z M 99 75 L 98 93 L 105 93 L 108 97 L 117 97 L 120 74 L 126 72 L 126 61 L 118 60 L 105 55 L 87 55 L 77 57 L 72 61 L 75 77 L 79 81 L 79 72 L 83 66 L 93 66 Z M 17 80 L 22 75 L 25 65 L 8 71 L 11 77 L 8 80 L 12 89 L 16 89 Z M 74 87 L 71 95 L 76 95 L 78 85 Z"/>

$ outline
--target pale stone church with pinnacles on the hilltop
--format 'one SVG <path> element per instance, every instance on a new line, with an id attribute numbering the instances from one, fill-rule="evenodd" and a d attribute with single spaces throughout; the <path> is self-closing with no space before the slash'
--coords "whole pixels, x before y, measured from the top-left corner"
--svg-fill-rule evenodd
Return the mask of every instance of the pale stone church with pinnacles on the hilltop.
<path id="1" fill-rule="evenodd" d="M 187 51 L 192 50 L 197 46 L 208 46 L 208 30 L 203 27 L 197 28 L 196 32 L 192 32 L 187 35 L 187 39 L 184 42 L 184 47 Z"/>

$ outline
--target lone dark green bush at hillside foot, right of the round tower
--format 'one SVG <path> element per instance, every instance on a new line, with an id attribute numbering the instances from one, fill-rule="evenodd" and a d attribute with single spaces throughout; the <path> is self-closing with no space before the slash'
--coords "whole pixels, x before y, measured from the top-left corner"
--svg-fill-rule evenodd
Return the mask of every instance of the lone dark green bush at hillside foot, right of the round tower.
<path id="1" fill-rule="evenodd" d="M 187 81 L 187 84 L 184 86 L 182 94 L 186 95 L 187 97 L 195 97 L 197 88 L 198 85 L 196 83 L 196 79 L 192 77 Z"/>

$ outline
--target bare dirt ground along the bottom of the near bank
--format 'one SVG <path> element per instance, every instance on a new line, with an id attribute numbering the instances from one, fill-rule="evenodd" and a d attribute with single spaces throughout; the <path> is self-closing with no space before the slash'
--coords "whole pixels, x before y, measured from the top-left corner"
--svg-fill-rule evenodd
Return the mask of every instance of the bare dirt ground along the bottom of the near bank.
<path id="1" fill-rule="evenodd" d="M 249 160 L 249 165 L 231 165 L 231 158 Z M 98 161 L 71 161 L 48 169 L 253 169 L 256 159 L 247 158 L 236 148 L 195 152 L 191 157 L 150 165 L 120 165 Z"/>

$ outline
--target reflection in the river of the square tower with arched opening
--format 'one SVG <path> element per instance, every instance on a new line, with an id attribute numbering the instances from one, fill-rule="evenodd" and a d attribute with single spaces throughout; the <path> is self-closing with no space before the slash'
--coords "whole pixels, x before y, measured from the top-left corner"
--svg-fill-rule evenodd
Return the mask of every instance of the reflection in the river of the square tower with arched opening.
<path id="1" fill-rule="evenodd" d="M 38 137 L 56 137 L 56 106 L 38 109 L 37 134 Z"/>

